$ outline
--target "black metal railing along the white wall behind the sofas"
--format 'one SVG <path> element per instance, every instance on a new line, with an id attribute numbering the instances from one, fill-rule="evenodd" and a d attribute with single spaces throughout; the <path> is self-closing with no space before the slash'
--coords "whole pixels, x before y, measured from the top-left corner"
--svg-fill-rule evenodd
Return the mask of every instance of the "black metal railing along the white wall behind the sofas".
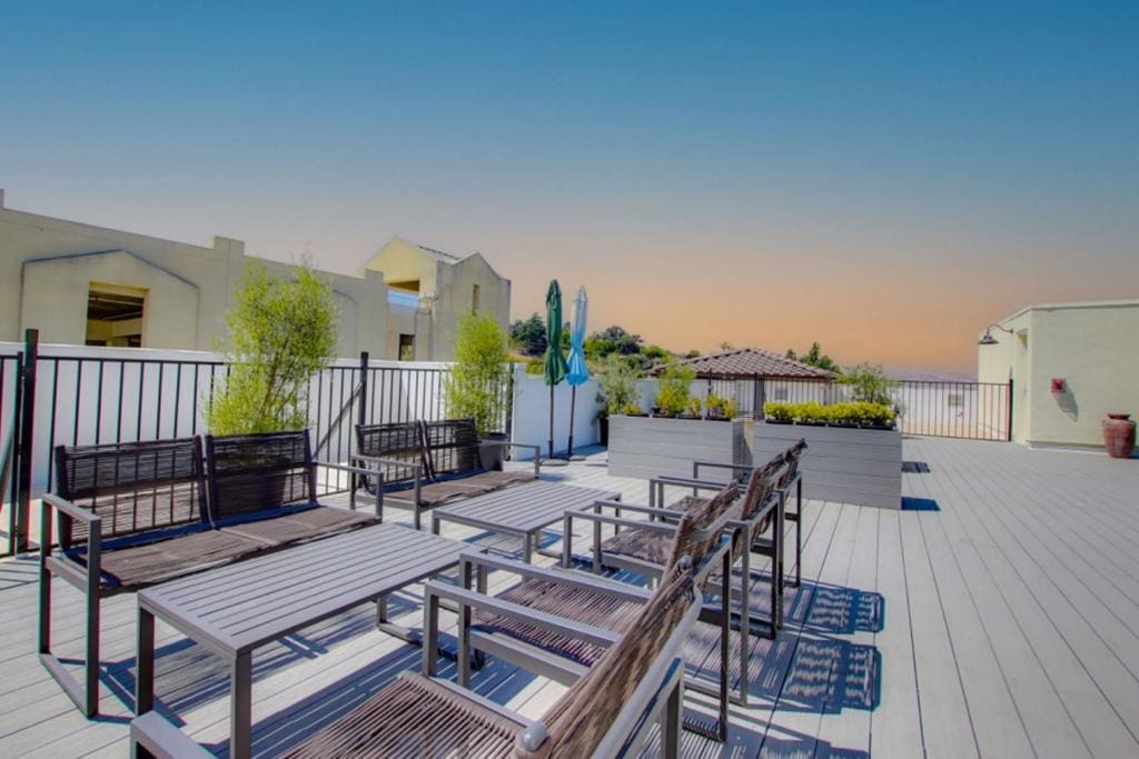
<path id="1" fill-rule="evenodd" d="M 0 354 L 0 485 L 8 486 L 0 495 L 0 503 L 8 501 L 0 505 L 8 523 L 7 535 L 0 537 L 15 535 L 17 529 L 26 535 L 28 518 L 18 504 L 50 488 L 57 445 L 202 434 L 210 401 L 230 371 L 214 360 L 50 348 L 36 357 L 30 376 L 24 355 L 36 347 L 30 335 L 24 352 Z M 355 422 L 443 419 L 445 372 L 445 365 L 371 362 L 367 354 L 359 362 L 339 360 L 321 370 L 312 378 L 305 401 L 316 456 L 350 459 Z M 30 418 L 27 387 L 34 403 Z M 509 411 L 506 416 L 503 423 L 509 424 Z M 24 423 L 25 418 L 30 423 Z M 322 477 L 326 493 L 346 485 L 335 475 Z"/>

